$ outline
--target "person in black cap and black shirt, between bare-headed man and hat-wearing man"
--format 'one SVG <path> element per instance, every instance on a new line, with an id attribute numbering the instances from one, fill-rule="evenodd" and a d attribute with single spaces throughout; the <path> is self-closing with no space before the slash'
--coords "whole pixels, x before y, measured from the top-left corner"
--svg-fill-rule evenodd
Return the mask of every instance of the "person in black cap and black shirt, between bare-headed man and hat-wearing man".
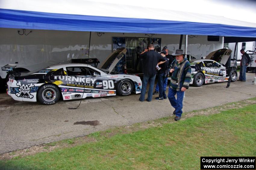
<path id="1" fill-rule="evenodd" d="M 167 96 L 165 94 L 166 89 L 164 89 L 164 87 L 166 88 L 166 86 L 164 86 L 164 83 L 165 83 L 164 81 L 167 81 L 167 77 L 165 77 L 164 72 L 165 72 L 165 70 L 168 69 L 169 64 L 168 64 L 168 59 L 165 57 L 166 51 L 161 51 L 160 54 L 161 54 L 161 56 L 164 57 L 166 62 L 159 65 L 159 67 L 161 68 L 160 70 L 158 70 L 159 97 L 156 97 L 155 98 L 156 100 L 167 99 Z"/>

